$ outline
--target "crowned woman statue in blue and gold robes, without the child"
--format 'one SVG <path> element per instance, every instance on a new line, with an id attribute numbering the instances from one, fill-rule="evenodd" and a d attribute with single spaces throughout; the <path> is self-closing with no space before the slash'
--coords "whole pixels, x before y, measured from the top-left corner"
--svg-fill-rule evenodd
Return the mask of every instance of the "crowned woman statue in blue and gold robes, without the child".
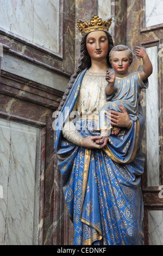
<path id="1" fill-rule="evenodd" d="M 111 19 L 97 15 L 90 22 L 78 20 L 80 58 L 55 120 L 55 153 L 74 245 L 143 245 L 140 142 L 145 119 L 140 104 L 136 121 L 121 105 L 120 112 L 106 115 L 111 125 L 121 127 L 117 135 L 103 140 L 97 130 L 107 102 L 106 70 L 112 70 L 110 25 Z"/>

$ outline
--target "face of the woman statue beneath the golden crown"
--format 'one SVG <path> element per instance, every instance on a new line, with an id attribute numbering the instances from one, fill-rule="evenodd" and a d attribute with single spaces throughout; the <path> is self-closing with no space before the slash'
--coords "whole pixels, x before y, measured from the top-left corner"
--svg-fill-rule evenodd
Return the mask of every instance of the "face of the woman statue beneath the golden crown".
<path id="1" fill-rule="evenodd" d="M 109 50 L 108 37 L 104 31 L 93 31 L 86 36 L 86 48 L 91 59 L 106 59 Z"/>

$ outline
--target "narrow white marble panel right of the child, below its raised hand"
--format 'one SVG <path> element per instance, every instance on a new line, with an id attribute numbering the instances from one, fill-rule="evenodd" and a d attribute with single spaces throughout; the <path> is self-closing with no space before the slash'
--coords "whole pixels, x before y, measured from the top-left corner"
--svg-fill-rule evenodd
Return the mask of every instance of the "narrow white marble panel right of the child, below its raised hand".
<path id="1" fill-rule="evenodd" d="M 147 185 L 159 186 L 158 47 L 148 47 L 146 51 L 153 64 L 153 74 L 146 90 Z"/>

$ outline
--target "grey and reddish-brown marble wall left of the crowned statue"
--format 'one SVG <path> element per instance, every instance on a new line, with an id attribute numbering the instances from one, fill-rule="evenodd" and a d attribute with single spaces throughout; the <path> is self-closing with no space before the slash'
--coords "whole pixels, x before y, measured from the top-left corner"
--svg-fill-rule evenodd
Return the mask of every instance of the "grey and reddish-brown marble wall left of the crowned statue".
<path id="1" fill-rule="evenodd" d="M 0 243 L 72 243 L 52 114 L 74 69 L 74 1 L 0 7 Z"/>

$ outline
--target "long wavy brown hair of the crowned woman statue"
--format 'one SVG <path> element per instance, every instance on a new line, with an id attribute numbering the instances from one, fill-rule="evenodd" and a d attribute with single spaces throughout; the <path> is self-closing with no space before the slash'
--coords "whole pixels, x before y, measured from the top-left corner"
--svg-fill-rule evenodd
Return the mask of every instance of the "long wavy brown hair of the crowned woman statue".
<path id="1" fill-rule="evenodd" d="M 68 82 L 68 85 L 66 87 L 64 96 L 62 97 L 62 100 L 61 100 L 60 105 L 58 107 L 58 111 L 61 111 L 62 107 L 64 106 L 64 103 L 67 99 L 68 94 L 70 93 L 70 90 L 72 88 L 72 85 L 73 85 L 74 80 L 76 79 L 76 77 L 79 75 L 79 73 L 82 70 L 84 70 L 85 68 L 90 68 L 90 66 L 91 66 L 91 57 L 89 56 L 89 53 L 87 52 L 87 48 L 86 48 L 86 36 L 89 33 L 84 34 L 83 37 L 82 37 L 82 40 L 80 42 L 80 58 L 79 58 L 79 61 L 78 61 L 78 65 L 76 67 L 76 70 L 74 71 L 74 74 L 71 76 L 70 81 Z M 108 62 L 108 65 L 111 67 L 110 61 L 109 61 L 109 53 L 110 53 L 112 47 L 114 47 L 114 42 L 112 40 L 112 36 L 110 35 L 110 33 L 107 32 L 107 31 L 105 31 L 105 33 L 108 37 L 108 42 L 109 42 L 107 62 Z"/>

